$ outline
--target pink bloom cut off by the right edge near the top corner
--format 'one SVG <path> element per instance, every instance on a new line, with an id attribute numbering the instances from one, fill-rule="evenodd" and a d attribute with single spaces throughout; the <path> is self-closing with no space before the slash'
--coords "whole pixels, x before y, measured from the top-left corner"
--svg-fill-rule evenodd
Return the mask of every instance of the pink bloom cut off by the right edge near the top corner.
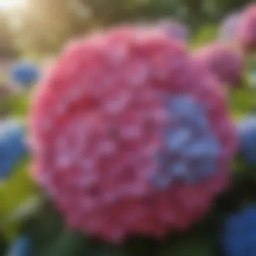
<path id="1" fill-rule="evenodd" d="M 256 5 L 249 5 L 241 13 L 238 41 L 246 52 L 256 49 Z"/>

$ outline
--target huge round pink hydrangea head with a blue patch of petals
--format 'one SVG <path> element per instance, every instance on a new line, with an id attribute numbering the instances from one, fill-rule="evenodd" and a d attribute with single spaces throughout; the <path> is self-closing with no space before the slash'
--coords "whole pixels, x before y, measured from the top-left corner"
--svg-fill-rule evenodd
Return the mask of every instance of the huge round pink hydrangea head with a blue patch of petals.
<path id="1" fill-rule="evenodd" d="M 236 129 L 225 94 L 161 31 L 75 41 L 41 85 L 32 173 L 69 227 L 116 243 L 160 237 L 202 218 L 228 185 Z"/>

